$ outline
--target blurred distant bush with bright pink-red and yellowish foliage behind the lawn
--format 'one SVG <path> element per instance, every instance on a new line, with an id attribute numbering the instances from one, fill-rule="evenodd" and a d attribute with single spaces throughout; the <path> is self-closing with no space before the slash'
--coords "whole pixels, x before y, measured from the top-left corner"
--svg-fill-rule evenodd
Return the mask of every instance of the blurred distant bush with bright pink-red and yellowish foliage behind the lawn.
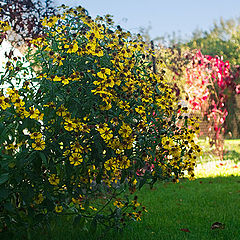
<path id="1" fill-rule="evenodd" d="M 210 145 L 223 159 L 224 135 L 234 128 L 239 131 L 235 96 L 240 94 L 240 68 L 219 56 L 187 47 L 160 48 L 157 59 L 179 99 L 208 122 Z"/>

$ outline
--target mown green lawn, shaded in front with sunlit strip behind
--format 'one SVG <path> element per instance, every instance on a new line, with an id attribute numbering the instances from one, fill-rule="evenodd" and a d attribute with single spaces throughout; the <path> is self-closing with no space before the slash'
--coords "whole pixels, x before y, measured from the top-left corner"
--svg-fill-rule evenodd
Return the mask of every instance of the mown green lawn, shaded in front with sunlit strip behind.
<path id="1" fill-rule="evenodd" d="M 228 151 L 238 153 L 238 144 L 239 140 L 228 140 Z M 122 232 L 113 230 L 105 233 L 98 230 L 96 234 L 91 234 L 81 227 L 74 227 L 71 221 L 60 218 L 52 221 L 50 229 L 30 232 L 29 237 L 43 240 L 239 240 L 240 159 L 237 156 L 222 162 L 216 157 L 213 160 L 197 166 L 198 178 L 194 181 L 158 183 L 153 190 L 144 187 L 138 197 L 147 206 L 148 213 L 142 221 L 129 224 Z M 224 224 L 224 228 L 212 230 L 214 222 Z M 5 237 L 11 239 L 9 235 Z M 1 238 L 0 235 L 0 239 L 4 239 L 4 236 Z M 23 238 L 17 233 L 12 239 Z"/>

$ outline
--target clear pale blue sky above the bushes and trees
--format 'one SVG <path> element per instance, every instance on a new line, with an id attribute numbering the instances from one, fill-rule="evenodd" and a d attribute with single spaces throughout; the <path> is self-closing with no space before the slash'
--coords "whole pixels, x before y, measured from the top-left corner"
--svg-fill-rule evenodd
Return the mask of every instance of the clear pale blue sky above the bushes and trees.
<path id="1" fill-rule="evenodd" d="M 240 17 L 239 0 L 54 0 L 54 3 L 81 5 L 92 17 L 109 13 L 116 25 L 131 32 L 151 26 L 152 39 L 172 32 L 191 36 L 197 28 L 208 30 L 220 17 Z"/>

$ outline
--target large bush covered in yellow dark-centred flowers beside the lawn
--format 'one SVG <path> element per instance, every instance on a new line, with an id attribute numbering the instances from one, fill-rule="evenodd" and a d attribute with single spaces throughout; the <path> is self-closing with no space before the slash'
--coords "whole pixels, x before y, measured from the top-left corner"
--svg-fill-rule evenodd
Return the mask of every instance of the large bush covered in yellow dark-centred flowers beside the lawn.
<path id="1" fill-rule="evenodd" d="M 137 189 L 194 177 L 197 123 L 164 74 L 150 72 L 141 38 L 110 16 L 92 20 L 78 7 L 42 24 L 31 66 L 9 58 L 1 79 L 19 86 L 0 95 L 0 228 L 54 214 L 92 226 L 140 220 Z"/>

